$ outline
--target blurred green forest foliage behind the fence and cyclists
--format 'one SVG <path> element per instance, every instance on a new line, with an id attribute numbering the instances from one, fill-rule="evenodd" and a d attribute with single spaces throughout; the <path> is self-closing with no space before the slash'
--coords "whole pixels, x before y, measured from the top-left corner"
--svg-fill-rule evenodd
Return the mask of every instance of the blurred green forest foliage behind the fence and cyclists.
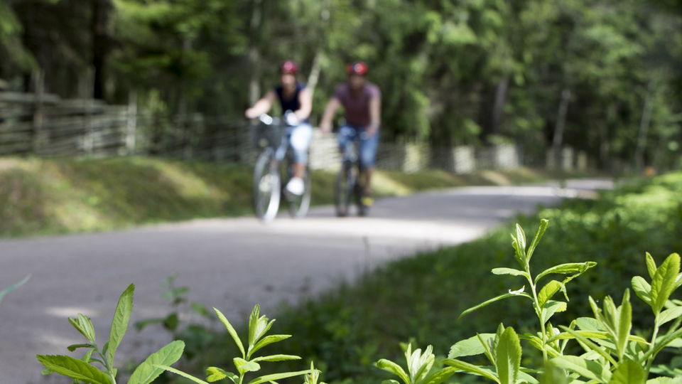
<path id="1" fill-rule="evenodd" d="M 646 164 L 673 167 L 682 142 L 674 3 L 6 0 L 0 51 L 11 60 L 0 78 L 31 91 L 27 74 L 40 68 L 46 89 L 69 97 L 89 97 L 100 82 L 107 100 L 136 93 L 171 124 L 190 112 L 241 119 L 249 94 L 271 88 L 277 64 L 293 58 L 301 80 L 315 82 L 314 120 L 345 63 L 362 59 L 382 90 L 386 138 L 446 146 L 507 137 L 542 160 L 566 91 L 561 144 L 602 166 L 632 163 L 642 146 Z M 96 58 L 102 78 L 93 79 Z M 164 125 L 155 129 L 168 134 Z"/>

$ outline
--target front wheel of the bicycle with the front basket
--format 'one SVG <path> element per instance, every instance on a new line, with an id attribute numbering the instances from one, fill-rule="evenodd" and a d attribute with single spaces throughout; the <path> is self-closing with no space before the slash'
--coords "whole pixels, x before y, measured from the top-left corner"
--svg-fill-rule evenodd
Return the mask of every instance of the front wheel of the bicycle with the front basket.
<path id="1" fill-rule="evenodd" d="M 254 169 L 254 210 L 262 221 L 270 221 L 277 215 L 281 186 L 279 171 L 274 164 L 274 151 L 266 149 L 256 161 Z"/>

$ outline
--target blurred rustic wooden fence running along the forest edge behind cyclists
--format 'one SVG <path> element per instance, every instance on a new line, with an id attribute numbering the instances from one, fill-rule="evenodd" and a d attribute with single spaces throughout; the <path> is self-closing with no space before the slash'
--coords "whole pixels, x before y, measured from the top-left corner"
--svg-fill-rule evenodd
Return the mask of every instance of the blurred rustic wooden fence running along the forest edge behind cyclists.
<path id="1" fill-rule="evenodd" d="M 106 105 L 97 100 L 62 100 L 55 95 L 0 92 L 0 155 L 129 156 L 144 154 L 180 159 L 252 164 L 256 157 L 249 125 L 225 117 L 187 114 L 154 116 L 131 105 Z M 584 169 L 585 154 L 563 149 L 561 168 Z M 552 165 L 548 154 L 536 163 Z M 315 131 L 310 147 L 313 169 L 340 164 L 334 137 Z M 473 148 L 434 148 L 425 144 L 382 142 L 377 166 L 418 171 L 426 168 L 468 173 L 528 165 L 513 144 Z M 533 164 L 540 165 L 540 164 Z"/>

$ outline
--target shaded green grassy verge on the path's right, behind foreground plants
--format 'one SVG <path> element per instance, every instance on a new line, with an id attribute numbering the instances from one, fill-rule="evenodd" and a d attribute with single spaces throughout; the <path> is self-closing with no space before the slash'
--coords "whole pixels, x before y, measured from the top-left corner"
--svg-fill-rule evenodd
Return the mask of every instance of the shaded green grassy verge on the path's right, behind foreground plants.
<path id="1" fill-rule="evenodd" d="M 553 321 L 567 324 L 575 316 L 590 314 L 588 295 L 601 300 L 610 294 L 619 302 L 630 277 L 647 275 L 645 251 L 661 262 L 669 253 L 682 250 L 682 173 L 604 193 L 596 201 L 566 201 L 516 221 L 530 237 L 539 218 L 548 218 L 550 227 L 534 256 L 534 270 L 561 262 L 598 262 L 569 286 L 569 311 Z M 502 321 L 524 329 L 534 323 L 534 314 L 514 300 L 457 320 L 467 307 L 521 286 L 519 278 L 489 272 L 493 267 L 515 267 L 512 229 L 510 224 L 465 245 L 392 262 L 353 287 L 340 287 L 283 309 L 274 314 L 278 319 L 274 331 L 294 335 L 283 344 L 283 351 L 314 359 L 328 383 L 369 384 L 388 378 L 372 363 L 398 358 L 399 342 L 433 344 L 435 353 L 447 355 L 455 341 L 494 332 Z M 651 316 L 645 316 L 648 312 L 639 299 L 632 302 L 635 329 L 646 334 L 651 324 L 644 319 Z M 232 341 L 219 340 L 195 362 L 196 367 L 229 365 L 227 356 L 234 356 Z M 301 366 L 305 364 L 291 368 Z"/>

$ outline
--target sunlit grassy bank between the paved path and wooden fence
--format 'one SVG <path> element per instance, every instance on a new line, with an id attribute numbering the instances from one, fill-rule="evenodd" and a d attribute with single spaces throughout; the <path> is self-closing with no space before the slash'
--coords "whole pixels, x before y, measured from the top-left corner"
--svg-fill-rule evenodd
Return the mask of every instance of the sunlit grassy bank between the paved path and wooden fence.
<path id="1" fill-rule="evenodd" d="M 462 176 L 380 171 L 374 190 L 379 196 L 396 196 L 548 176 L 528 169 Z M 332 173 L 315 172 L 313 204 L 332 201 L 333 181 Z M 144 158 L 0 158 L 0 237 L 111 230 L 251 212 L 250 166 Z"/>

